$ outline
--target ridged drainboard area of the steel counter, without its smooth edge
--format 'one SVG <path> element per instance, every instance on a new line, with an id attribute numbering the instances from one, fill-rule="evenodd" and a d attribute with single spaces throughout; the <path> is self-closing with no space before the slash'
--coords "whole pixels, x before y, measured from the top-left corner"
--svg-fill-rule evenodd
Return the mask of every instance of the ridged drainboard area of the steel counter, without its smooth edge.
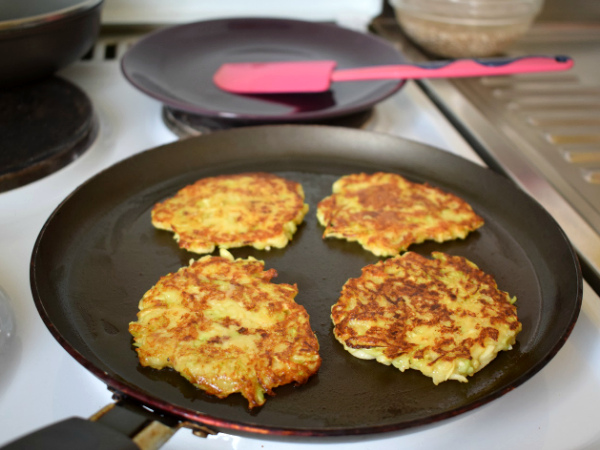
<path id="1" fill-rule="evenodd" d="M 559 40 L 560 39 L 560 40 Z M 537 27 L 519 54 L 573 57 L 568 73 L 456 80 L 454 85 L 518 146 L 600 233 L 600 82 L 598 28 Z"/>

